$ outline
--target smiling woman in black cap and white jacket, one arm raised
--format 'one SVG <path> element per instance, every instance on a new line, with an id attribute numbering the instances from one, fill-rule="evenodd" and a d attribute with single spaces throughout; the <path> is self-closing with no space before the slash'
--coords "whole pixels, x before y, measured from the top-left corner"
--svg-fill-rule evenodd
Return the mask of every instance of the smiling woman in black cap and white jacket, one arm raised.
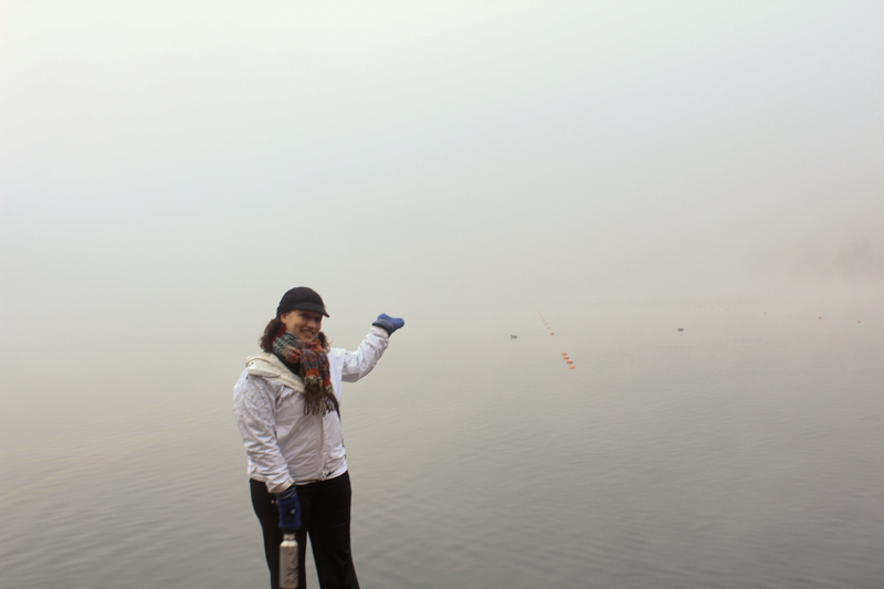
<path id="1" fill-rule="evenodd" d="M 296 529 L 298 587 L 311 538 L 319 586 L 358 588 L 350 555 L 350 478 L 340 428 L 340 385 L 375 368 L 406 322 L 381 314 L 356 351 L 332 348 L 319 330 L 322 297 L 298 286 L 283 295 L 233 388 L 252 505 L 264 532 L 271 587 L 280 586 L 282 529 Z"/>

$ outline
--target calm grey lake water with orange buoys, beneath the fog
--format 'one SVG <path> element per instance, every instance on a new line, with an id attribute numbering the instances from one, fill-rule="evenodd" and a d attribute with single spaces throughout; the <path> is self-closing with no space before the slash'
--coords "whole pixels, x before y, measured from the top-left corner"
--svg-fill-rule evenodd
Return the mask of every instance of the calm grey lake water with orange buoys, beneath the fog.
<path id="1" fill-rule="evenodd" d="M 541 311 L 409 318 L 345 386 L 362 587 L 882 586 L 873 306 Z M 238 345 L 4 375 L 0 586 L 269 585 Z"/>

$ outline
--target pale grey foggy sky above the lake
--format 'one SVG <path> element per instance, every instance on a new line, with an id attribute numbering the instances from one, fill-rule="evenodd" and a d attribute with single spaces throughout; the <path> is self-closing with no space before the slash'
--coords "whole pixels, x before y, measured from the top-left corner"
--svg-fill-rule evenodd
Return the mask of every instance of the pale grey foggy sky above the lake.
<path id="1" fill-rule="evenodd" d="M 251 344 L 301 284 L 347 325 L 884 286 L 882 2 L 0 19 L 8 360 L 120 328 Z"/>

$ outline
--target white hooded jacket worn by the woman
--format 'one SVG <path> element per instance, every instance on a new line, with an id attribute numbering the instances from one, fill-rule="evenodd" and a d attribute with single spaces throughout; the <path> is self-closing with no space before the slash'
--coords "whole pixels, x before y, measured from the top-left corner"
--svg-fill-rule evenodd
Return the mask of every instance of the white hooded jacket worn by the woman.
<path id="1" fill-rule="evenodd" d="M 328 370 L 340 407 L 341 381 L 369 374 L 387 349 L 389 335 L 372 327 L 356 351 L 332 348 Z M 304 382 L 272 354 L 246 359 L 233 387 L 233 409 L 249 455 L 249 477 L 271 493 L 293 483 L 334 478 L 347 471 L 344 431 L 337 412 L 304 414 Z"/>

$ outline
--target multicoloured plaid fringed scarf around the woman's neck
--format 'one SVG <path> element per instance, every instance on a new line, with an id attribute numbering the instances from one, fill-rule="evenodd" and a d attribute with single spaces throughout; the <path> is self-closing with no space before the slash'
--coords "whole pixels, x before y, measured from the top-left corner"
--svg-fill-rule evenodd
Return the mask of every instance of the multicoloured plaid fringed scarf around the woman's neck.
<path id="1" fill-rule="evenodd" d="M 304 414 L 325 416 L 337 409 L 335 389 L 328 372 L 328 354 L 319 339 L 305 344 L 291 332 L 273 340 L 273 353 L 286 366 L 301 366 L 298 375 L 304 380 Z"/>

